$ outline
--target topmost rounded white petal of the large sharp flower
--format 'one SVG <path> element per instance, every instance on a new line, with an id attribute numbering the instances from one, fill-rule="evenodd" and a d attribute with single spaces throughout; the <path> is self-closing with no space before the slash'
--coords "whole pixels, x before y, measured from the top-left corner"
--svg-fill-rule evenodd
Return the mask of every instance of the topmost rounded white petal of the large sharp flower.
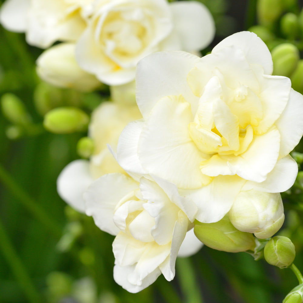
<path id="1" fill-rule="evenodd" d="M 235 33 L 216 45 L 213 48 L 212 53 L 231 45 L 239 46 L 245 53 L 245 58 L 250 64 L 262 65 L 266 75 L 272 74 L 273 63 L 271 53 L 269 52 L 266 44 L 255 33 Z"/>

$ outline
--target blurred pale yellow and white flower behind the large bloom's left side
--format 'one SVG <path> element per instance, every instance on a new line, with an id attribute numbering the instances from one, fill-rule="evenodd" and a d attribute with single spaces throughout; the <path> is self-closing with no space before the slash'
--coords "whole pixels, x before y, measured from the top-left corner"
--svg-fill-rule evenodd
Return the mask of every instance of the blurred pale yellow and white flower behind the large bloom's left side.
<path id="1" fill-rule="evenodd" d="M 141 118 L 137 105 L 123 106 L 104 102 L 92 113 L 89 137 L 94 142 L 90 160 L 75 160 L 68 164 L 58 177 L 57 189 L 63 200 L 78 211 L 85 212 L 82 198 L 93 180 L 112 172 L 125 171 L 107 148 L 116 149 L 122 129 L 128 122 Z"/>

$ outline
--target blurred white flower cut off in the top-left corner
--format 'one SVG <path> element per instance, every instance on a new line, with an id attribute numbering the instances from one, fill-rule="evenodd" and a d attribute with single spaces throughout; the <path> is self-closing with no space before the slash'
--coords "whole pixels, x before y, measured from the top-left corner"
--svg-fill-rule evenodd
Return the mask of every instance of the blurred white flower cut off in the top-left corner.
<path id="1" fill-rule="evenodd" d="M 0 22 L 25 32 L 30 45 L 47 48 L 55 41 L 76 41 L 86 28 L 94 0 L 6 0 Z"/>

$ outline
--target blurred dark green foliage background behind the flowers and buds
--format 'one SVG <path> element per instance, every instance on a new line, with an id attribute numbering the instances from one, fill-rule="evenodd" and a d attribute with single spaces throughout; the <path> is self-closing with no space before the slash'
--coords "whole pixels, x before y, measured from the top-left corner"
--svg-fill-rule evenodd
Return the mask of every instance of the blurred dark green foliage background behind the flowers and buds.
<path id="1" fill-rule="evenodd" d="M 256 1 L 201 2 L 217 24 L 215 41 L 205 53 L 257 22 Z M 208 247 L 178 259 L 172 282 L 160 276 L 138 294 L 116 285 L 113 237 L 100 231 L 92 218 L 66 206 L 56 191 L 58 174 L 79 158 L 76 144 L 86 133 L 56 135 L 42 127 L 48 108 L 76 104 L 89 113 L 108 91 L 83 95 L 41 84 L 35 74 L 41 52 L 26 44 L 25 35 L 0 27 L 0 97 L 14 93 L 32 117 L 30 126 L 18 128 L 0 112 L 0 302 L 281 302 L 298 284 L 291 270 L 254 261 L 246 253 Z M 291 195 L 283 195 L 286 220 L 281 234 L 296 245 L 295 264 L 303 269 L 300 180 Z"/>

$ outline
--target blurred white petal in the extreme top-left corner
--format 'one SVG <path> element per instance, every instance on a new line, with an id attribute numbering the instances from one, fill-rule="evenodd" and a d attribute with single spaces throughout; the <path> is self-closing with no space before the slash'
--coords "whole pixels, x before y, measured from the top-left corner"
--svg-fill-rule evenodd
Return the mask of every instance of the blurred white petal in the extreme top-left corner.
<path id="1" fill-rule="evenodd" d="M 0 23 L 9 31 L 25 32 L 29 6 L 29 0 L 6 0 L 1 5 Z"/>

